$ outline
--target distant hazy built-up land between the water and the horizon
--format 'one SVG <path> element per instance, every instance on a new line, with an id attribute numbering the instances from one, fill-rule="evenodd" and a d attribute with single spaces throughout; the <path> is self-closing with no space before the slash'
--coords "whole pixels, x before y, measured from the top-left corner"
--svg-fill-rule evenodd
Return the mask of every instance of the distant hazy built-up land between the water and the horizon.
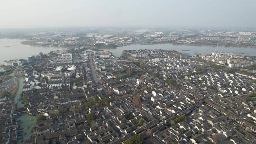
<path id="1" fill-rule="evenodd" d="M 93 46 L 95 48 L 117 48 L 124 45 L 173 45 L 256 47 L 256 32 L 239 29 L 187 29 L 187 28 L 87 28 L 55 29 L 54 33 L 23 32 L 20 36 L 2 33 L 0 37 L 26 38 L 25 45 L 56 47 Z M 25 36 L 24 36 L 25 35 Z"/>

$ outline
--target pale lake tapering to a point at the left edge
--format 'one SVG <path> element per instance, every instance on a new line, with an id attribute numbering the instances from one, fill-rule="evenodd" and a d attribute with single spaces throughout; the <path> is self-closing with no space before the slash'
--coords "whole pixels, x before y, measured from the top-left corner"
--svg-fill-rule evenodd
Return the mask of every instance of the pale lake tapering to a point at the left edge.
<path id="1" fill-rule="evenodd" d="M 7 39 L 0 38 L 0 64 L 10 59 L 24 59 L 31 55 L 37 55 L 40 52 L 47 54 L 58 47 L 44 47 L 44 46 L 31 46 L 22 45 L 22 39 Z"/>

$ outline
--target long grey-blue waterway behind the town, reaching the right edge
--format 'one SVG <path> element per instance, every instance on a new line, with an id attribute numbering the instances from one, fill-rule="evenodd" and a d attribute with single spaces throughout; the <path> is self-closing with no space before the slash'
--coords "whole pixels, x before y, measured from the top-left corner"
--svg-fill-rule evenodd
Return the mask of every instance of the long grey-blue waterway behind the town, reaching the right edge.
<path id="1" fill-rule="evenodd" d="M 104 50 L 110 51 L 115 56 L 120 56 L 123 50 L 139 50 L 139 49 L 175 50 L 180 53 L 192 53 L 192 54 L 211 54 L 211 52 L 218 51 L 218 52 L 224 52 L 224 53 L 244 53 L 239 55 L 256 56 L 256 48 L 252 48 L 252 47 L 224 47 L 224 46 L 212 47 L 212 46 L 157 44 L 157 45 L 128 45 L 128 46 L 117 47 L 116 49 L 104 49 Z"/>

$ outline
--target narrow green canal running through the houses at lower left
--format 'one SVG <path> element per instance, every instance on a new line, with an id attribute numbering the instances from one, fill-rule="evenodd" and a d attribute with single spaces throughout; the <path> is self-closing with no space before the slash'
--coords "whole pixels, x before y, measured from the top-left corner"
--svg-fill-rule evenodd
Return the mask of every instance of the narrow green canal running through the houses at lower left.
<path id="1" fill-rule="evenodd" d="M 14 102 L 17 103 L 17 108 L 23 108 L 24 105 L 19 101 L 20 95 L 22 93 L 22 88 L 24 86 L 24 77 L 18 77 L 18 91 L 16 92 L 14 96 Z M 17 120 L 21 120 L 22 123 L 20 123 L 20 127 L 23 128 L 23 140 L 25 141 L 27 139 L 28 135 L 31 135 L 31 129 L 33 126 L 36 125 L 36 116 L 29 116 L 26 112 L 23 112 L 20 117 L 17 118 Z M 18 144 L 22 144 L 21 140 L 18 140 Z"/>

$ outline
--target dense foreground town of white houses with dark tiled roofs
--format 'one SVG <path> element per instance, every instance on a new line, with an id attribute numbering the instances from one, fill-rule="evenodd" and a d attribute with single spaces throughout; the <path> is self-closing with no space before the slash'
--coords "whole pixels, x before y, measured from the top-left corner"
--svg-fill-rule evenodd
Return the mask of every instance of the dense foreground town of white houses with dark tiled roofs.
<path id="1" fill-rule="evenodd" d="M 78 47 L 4 65 L 19 79 L 0 87 L 1 144 L 256 142 L 254 56 L 143 49 L 116 57 Z M 25 126 L 23 115 L 36 121 Z"/>

